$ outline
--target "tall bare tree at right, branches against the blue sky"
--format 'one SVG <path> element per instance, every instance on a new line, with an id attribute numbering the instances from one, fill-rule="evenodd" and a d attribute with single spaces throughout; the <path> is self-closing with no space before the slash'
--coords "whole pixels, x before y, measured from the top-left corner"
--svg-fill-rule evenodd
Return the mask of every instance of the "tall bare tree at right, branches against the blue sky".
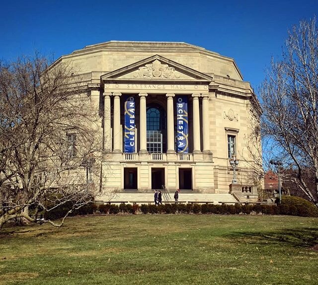
<path id="1" fill-rule="evenodd" d="M 272 61 L 259 92 L 262 136 L 294 182 L 318 207 L 318 29 L 316 18 L 289 31 L 280 61 Z M 269 148 L 267 148 L 269 149 Z M 266 149 L 263 149 L 266 153 Z M 308 172 L 314 187 L 308 183 Z"/>

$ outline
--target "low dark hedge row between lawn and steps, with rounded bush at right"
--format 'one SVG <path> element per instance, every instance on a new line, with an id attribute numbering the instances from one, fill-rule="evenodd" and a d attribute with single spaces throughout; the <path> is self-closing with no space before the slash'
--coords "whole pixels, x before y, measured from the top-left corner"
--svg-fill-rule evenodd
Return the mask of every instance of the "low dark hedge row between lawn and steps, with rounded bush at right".
<path id="1" fill-rule="evenodd" d="M 165 204 L 165 205 L 130 205 L 88 204 L 71 215 L 83 214 L 284 214 L 318 217 L 318 209 L 310 202 L 299 197 L 284 197 L 281 205 L 213 205 L 213 204 Z M 65 207 L 49 212 L 47 218 L 61 218 L 67 213 Z"/>

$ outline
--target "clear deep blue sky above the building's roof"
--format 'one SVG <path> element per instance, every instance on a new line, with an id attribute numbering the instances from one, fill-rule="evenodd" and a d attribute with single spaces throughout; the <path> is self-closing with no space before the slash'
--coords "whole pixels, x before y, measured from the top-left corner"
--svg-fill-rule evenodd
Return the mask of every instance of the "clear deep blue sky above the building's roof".
<path id="1" fill-rule="evenodd" d="M 255 88 L 287 30 L 318 0 L 1 0 L 0 59 L 34 50 L 57 59 L 110 40 L 180 41 L 236 60 Z"/>

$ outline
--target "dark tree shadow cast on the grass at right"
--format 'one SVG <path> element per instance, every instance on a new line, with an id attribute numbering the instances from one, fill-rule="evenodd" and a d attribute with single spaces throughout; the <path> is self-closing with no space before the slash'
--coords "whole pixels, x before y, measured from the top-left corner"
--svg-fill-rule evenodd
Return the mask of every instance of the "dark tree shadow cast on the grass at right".
<path id="1" fill-rule="evenodd" d="M 248 243 L 286 244 L 318 250 L 318 227 L 288 228 L 271 232 L 236 232 L 230 234 L 230 237 Z"/>

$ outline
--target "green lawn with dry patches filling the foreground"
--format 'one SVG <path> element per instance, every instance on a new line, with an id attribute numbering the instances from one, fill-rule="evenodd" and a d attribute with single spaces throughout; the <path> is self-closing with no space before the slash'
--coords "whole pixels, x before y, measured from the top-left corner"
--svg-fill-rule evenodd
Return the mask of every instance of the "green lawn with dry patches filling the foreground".
<path id="1" fill-rule="evenodd" d="M 317 285 L 317 244 L 318 218 L 73 217 L 4 228 L 0 284 Z"/>

